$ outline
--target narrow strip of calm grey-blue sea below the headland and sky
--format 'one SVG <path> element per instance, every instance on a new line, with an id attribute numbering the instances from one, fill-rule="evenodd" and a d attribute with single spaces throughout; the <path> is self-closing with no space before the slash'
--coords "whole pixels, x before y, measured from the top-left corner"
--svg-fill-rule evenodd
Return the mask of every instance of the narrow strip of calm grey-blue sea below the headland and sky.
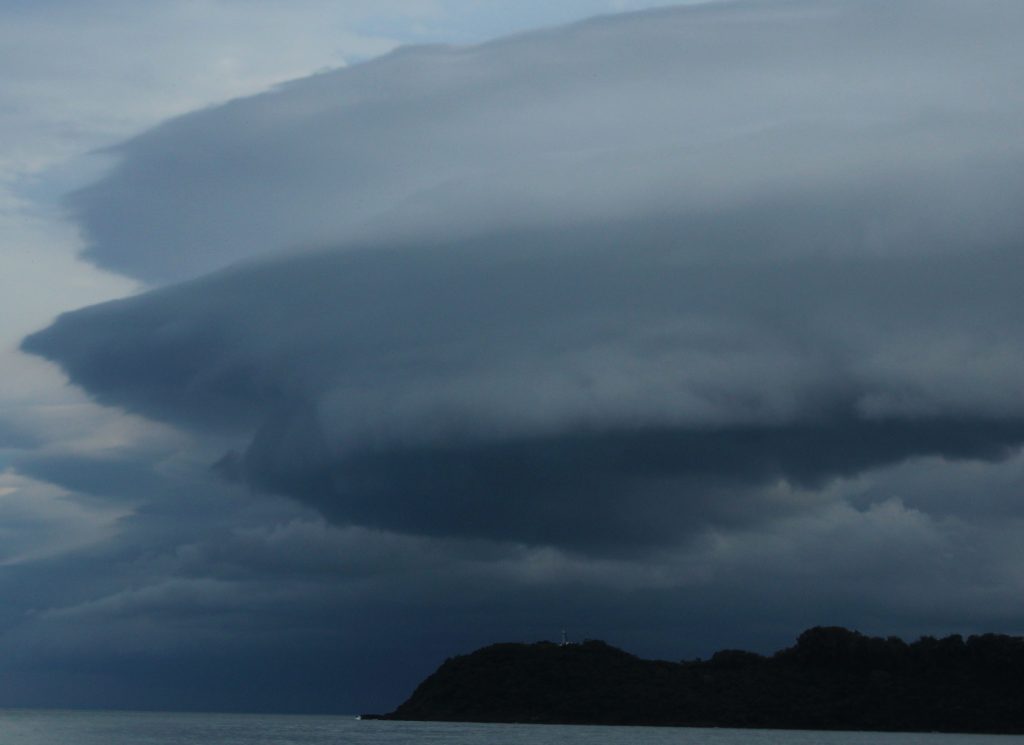
<path id="1" fill-rule="evenodd" d="M 2 745 L 991 745 L 1024 737 L 356 721 L 343 716 L 0 710 Z"/>

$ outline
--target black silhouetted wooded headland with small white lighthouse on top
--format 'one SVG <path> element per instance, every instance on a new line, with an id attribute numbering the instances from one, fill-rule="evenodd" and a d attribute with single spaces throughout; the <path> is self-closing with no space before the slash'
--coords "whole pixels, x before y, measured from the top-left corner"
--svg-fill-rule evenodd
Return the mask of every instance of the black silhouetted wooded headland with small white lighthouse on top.
<path id="1" fill-rule="evenodd" d="M 804 631 L 765 657 L 644 660 L 603 642 L 496 644 L 452 657 L 390 714 L 573 725 L 1024 733 L 1024 639 Z"/>

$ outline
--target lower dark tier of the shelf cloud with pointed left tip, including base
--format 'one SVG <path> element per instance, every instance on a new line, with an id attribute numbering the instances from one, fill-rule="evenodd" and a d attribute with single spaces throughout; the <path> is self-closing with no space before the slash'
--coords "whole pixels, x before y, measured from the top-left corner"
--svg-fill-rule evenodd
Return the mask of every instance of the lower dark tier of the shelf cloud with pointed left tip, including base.
<path id="1" fill-rule="evenodd" d="M 667 543 L 783 514 L 757 492 L 779 480 L 1024 441 L 1020 252 L 780 258 L 827 213 L 774 207 L 289 256 L 66 314 L 26 348 L 100 401 L 254 433 L 227 475 L 426 534 Z"/>

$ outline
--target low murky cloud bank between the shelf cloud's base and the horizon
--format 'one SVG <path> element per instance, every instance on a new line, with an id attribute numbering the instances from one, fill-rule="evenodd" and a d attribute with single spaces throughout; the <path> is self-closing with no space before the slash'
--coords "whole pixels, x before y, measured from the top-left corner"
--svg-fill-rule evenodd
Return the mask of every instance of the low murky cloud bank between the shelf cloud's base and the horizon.
<path id="1" fill-rule="evenodd" d="M 94 458 L 74 483 L 101 486 L 109 466 L 116 485 L 150 458 Z M 34 466 L 45 475 L 42 458 Z M 930 468 L 923 491 L 990 485 L 980 463 Z M 762 507 L 756 523 L 720 519 L 681 545 L 594 558 L 332 526 L 290 500 L 225 489 L 205 467 L 154 469 L 145 487 L 110 539 L 0 571 L 5 700 L 348 713 L 391 708 L 452 654 L 557 638 L 563 625 L 680 658 L 772 651 L 819 622 L 915 636 L 1015 631 L 1020 617 L 1020 521 L 1009 515 L 993 528 L 896 499 L 817 499 L 772 519 Z M 765 621 L 752 630 L 753 613 Z"/>

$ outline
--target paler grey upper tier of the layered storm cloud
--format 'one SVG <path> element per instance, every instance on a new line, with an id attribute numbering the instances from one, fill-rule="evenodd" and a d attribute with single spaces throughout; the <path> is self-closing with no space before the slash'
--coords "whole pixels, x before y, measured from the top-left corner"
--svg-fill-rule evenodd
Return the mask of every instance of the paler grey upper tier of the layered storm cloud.
<path id="1" fill-rule="evenodd" d="M 152 281 L 352 238 L 873 191 L 922 164 L 952 171 L 868 244 L 1012 234 L 1019 191 L 983 157 L 1020 156 L 1022 18 L 1014 0 L 732 2 L 404 49 L 139 135 L 72 208 L 88 257 Z"/>

